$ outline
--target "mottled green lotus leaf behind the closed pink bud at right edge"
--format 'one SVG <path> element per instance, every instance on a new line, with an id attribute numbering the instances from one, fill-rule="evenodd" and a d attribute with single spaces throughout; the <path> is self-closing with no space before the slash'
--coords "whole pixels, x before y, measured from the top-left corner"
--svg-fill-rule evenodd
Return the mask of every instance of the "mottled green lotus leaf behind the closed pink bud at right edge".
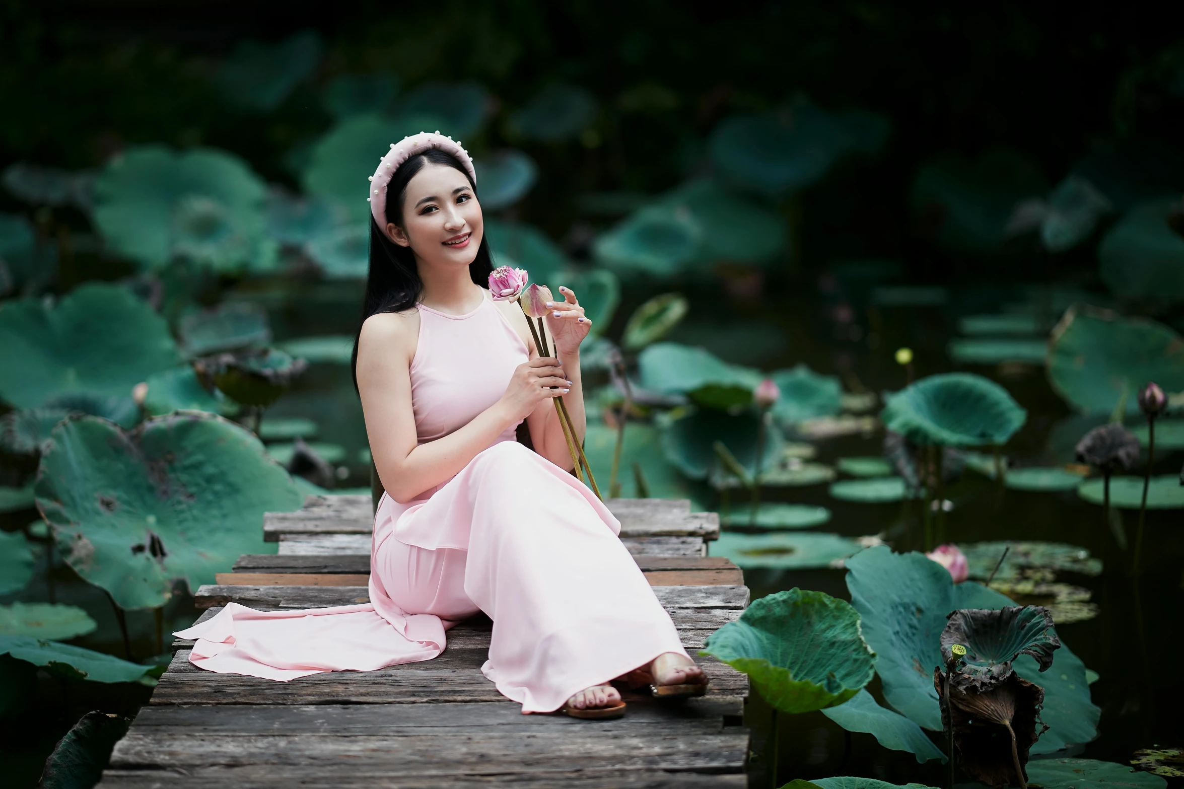
<path id="1" fill-rule="evenodd" d="M 1125 396 L 1133 415 L 1147 381 L 1166 392 L 1184 389 L 1184 339 L 1154 321 L 1073 306 L 1049 338 L 1048 380 L 1082 413 L 1109 414 Z"/>

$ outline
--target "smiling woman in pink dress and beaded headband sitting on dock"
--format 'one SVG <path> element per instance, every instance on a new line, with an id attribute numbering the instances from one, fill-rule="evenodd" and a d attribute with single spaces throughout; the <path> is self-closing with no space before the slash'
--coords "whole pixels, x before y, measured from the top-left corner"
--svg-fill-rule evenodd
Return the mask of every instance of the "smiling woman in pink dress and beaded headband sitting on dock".
<path id="1" fill-rule="evenodd" d="M 523 712 L 624 712 L 610 684 L 702 693 L 707 678 L 618 539 L 620 524 L 571 473 L 551 400 L 585 432 L 575 293 L 548 303 L 554 357 L 517 304 L 483 287 L 491 265 L 476 173 L 439 134 L 407 137 L 371 179 L 371 264 L 354 381 L 385 493 L 371 602 L 304 612 L 234 603 L 179 633 L 211 671 L 292 679 L 427 660 L 444 630 L 484 612 L 482 672 Z M 526 421 L 534 450 L 515 440 Z"/>

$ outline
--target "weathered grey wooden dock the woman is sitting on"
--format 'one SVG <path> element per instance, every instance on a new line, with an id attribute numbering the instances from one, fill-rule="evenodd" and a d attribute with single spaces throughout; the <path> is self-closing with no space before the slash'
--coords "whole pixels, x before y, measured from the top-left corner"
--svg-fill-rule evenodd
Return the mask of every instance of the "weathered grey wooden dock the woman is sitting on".
<path id="1" fill-rule="evenodd" d="M 265 539 L 279 543 L 278 555 L 243 556 L 233 573 L 201 587 L 200 620 L 231 601 L 259 609 L 366 602 L 371 506 L 368 496 L 310 496 L 298 512 L 268 513 Z M 491 627 L 484 617 L 449 630 L 433 660 L 290 683 L 202 671 L 188 662 L 192 642 L 176 640 L 99 787 L 747 787 L 748 678 L 696 655 L 748 603 L 740 570 L 706 556 L 719 518 L 691 513 L 684 500 L 609 506 L 710 677 L 707 696 L 659 701 L 623 691 L 629 711 L 616 720 L 522 714 L 481 673 Z"/>

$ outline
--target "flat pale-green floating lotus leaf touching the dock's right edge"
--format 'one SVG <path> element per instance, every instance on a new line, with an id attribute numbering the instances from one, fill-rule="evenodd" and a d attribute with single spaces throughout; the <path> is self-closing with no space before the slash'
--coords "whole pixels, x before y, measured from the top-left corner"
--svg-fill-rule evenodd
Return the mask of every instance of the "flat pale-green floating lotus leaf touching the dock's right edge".
<path id="1" fill-rule="evenodd" d="M 739 515 L 742 518 L 747 513 L 741 509 Z M 860 549 L 860 543 L 854 539 L 821 531 L 770 531 L 760 535 L 725 531 L 708 551 L 712 556 L 732 560 L 742 569 L 813 570 L 842 567 L 843 560 L 855 556 Z"/>

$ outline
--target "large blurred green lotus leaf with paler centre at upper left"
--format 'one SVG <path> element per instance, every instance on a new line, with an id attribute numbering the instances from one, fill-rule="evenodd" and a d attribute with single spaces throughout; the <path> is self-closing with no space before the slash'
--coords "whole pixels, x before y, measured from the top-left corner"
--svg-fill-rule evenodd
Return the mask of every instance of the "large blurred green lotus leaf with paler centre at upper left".
<path id="1" fill-rule="evenodd" d="M 136 145 L 95 179 L 95 224 L 107 242 L 141 266 L 180 258 L 224 273 L 269 271 L 266 187 L 243 160 L 223 150 L 178 153 Z"/>

